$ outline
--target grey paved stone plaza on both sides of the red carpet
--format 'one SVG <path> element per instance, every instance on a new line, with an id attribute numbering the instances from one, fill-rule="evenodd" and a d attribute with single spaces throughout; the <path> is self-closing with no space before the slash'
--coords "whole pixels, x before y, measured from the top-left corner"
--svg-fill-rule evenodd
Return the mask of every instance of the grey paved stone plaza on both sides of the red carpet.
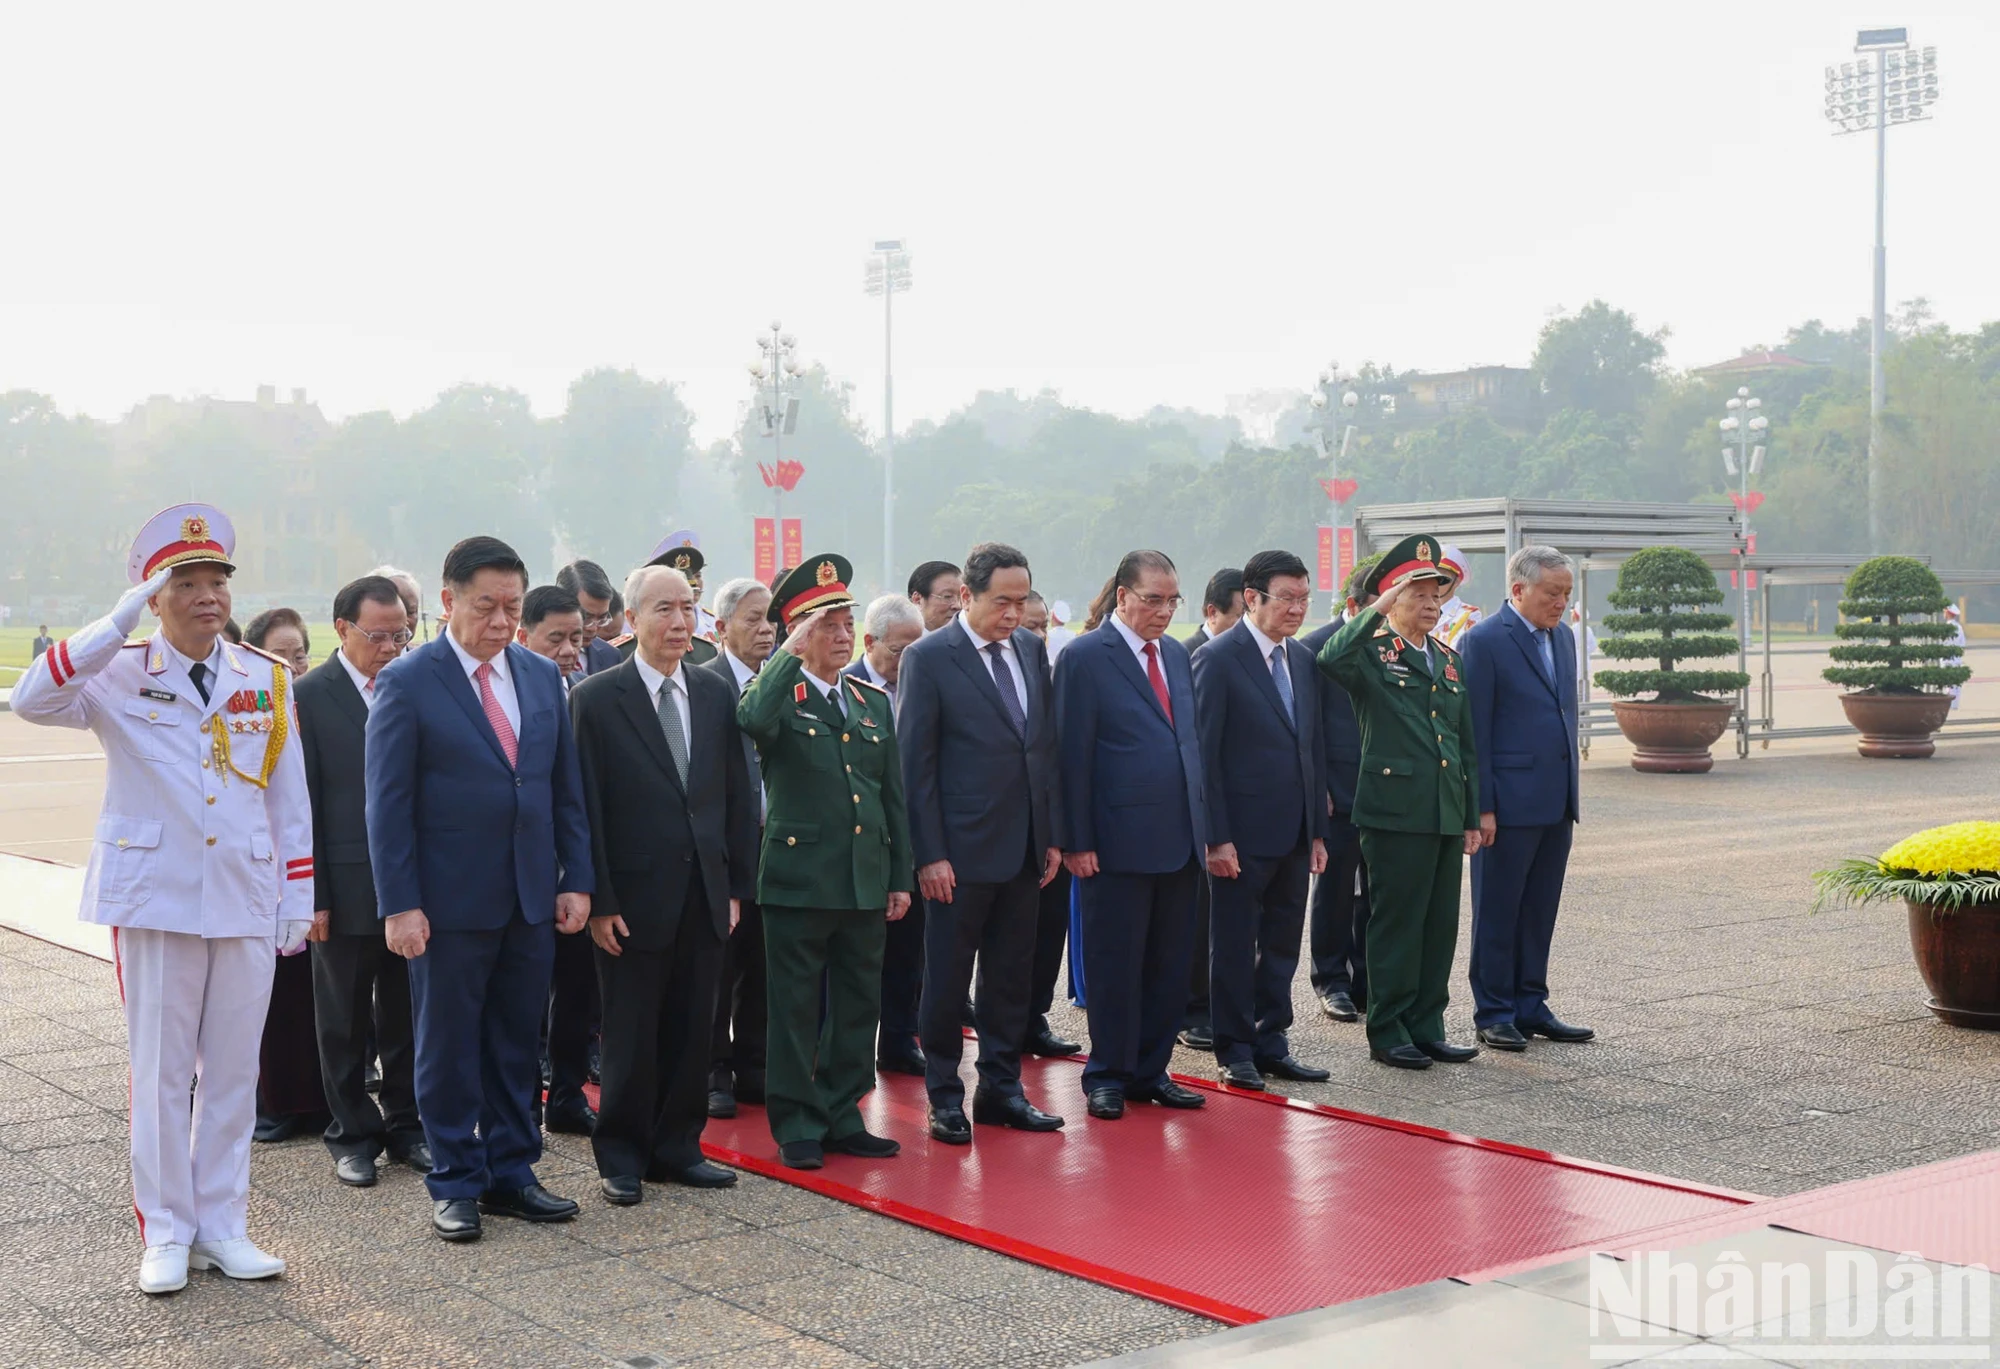
<path id="1" fill-rule="evenodd" d="M 1990 741 L 1928 763 L 1848 745 L 1642 777 L 1604 749 L 1584 771 L 1552 973 L 1554 1007 L 1600 1039 L 1398 1073 L 1366 1059 L 1358 1025 L 1320 1017 L 1300 977 L 1296 1053 L 1334 1079 L 1290 1091 L 1764 1195 L 1994 1147 L 2000 1037 L 1924 1009 L 1902 911 L 1804 909 L 1816 867 L 1990 817 L 1996 763 Z M 1464 937 L 1454 995 L 1470 1039 Z M 1062 1025 L 1082 1031 L 1080 1015 Z M 496 1219 L 468 1247 L 430 1237 L 404 1169 L 354 1191 L 316 1139 L 258 1147 L 250 1231 L 288 1277 L 194 1275 L 154 1301 L 132 1287 L 110 967 L 0 933 L 0 1365 L 1070 1365 L 1216 1329 L 756 1177 L 720 1195 L 648 1187 L 614 1211 L 572 1137 L 542 1175 L 584 1215 Z M 1176 1067 L 1206 1073 L 1186 1051 Z M 1092 1125 L 1082 1099 L 1042 1103 Z M 1338 1213 L 1326 1239 L 1338 1259 Z"/>

